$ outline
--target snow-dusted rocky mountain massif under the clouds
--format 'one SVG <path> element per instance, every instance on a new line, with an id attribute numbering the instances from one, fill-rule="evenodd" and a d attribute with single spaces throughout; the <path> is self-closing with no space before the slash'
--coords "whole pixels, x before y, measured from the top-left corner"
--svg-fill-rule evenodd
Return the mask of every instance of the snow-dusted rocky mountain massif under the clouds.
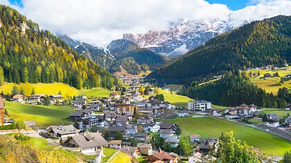
<path id="1" fill-rule="evenodd" d="M 125 33 L 123 39 L 168 57 L 178 57 L 188 50 L 205 44 L 209 39 L 243 26 L 245 23 L 249 21 L 235 23 L 219 19 L 200 21 L 179 19 L 170 21 L 166 30 L 149 30 L 136 35 Z"/>

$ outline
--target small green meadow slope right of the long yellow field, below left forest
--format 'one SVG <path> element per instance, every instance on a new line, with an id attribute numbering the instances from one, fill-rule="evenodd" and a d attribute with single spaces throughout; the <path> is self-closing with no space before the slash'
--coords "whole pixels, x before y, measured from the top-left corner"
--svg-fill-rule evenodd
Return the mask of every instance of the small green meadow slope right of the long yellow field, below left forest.
<path id="1" fill-rule="evenodd" d="M 107 90 L 104 88 L 92 88 L 89 90 L 78 90 L 78 93 L 80 95 L 86 95 L 88 98 L 91 97 L 109 97 L 110 93 L 112 93 L 111 90 Z"/>

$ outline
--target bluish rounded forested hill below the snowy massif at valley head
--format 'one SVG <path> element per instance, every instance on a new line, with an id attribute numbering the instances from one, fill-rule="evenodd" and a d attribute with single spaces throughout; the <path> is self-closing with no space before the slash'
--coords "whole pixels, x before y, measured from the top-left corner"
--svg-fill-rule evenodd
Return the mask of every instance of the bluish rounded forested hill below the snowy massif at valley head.
<path id="1" fill-rule="evenodd" d="M 140 66 L 146 65 L 150 70 L 156 70 L 166 64 L 166 59 L 163 56 L 146 48 L 139 48 L 131 41 L 125 39 L 114 40 L 107 46 L 107 48 L 116 59 L 119 60 L 126 57 L 132 57 Z"/>

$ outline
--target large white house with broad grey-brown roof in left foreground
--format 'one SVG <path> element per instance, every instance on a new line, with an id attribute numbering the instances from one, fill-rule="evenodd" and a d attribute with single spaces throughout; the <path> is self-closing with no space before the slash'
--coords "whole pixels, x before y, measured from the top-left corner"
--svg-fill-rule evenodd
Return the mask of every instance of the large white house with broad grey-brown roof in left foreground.
<path id="1" fill-rule="evenodd" d="M 67 143 L 71 146 L 78 146 L 80 152 L 89 155 L 93 155 L 94 153 L 101 153 L 103 155 L 103 146 L 107 146 L 108 144 L 100 133 L 73 136 Z"/>

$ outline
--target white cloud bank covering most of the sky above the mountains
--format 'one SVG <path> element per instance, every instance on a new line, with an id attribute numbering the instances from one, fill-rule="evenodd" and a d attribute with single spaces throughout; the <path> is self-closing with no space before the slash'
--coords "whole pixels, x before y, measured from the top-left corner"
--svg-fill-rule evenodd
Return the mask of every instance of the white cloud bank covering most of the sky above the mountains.
<path id="1" fill-rule="evenodd" d="M 235 12 L 204 0 L 23 0 L 24 8 L 12 7 L 42 28 L 60 30 L 93 44 L 119 39 L 125 32 L 163 29 L 167 21 L 179 18 L 229 19 L 231 13 L 231 20 L 240 21 L 291 13 L 291 2 L 287 0 L 252 1 L 259 2 Z M 7 0 L 0 3 L 9 4 Z"/>

